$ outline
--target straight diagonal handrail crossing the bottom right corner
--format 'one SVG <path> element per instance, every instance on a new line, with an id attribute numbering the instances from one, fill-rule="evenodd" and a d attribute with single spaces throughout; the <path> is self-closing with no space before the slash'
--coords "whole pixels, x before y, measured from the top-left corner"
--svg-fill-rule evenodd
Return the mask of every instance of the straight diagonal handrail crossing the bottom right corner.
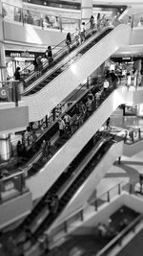
<path id="1" fill-rule="evenodd" d="M 143 215 L 140 214 L 133 220 L 125 229 L 123 229 L 115 238 L 112 239 L 112 241 L 107 244 L 103 249 L 101 249 L 95 256 L 104 256 L 105 253 L 108 253 L 108 251 L 111 249 L 112 245 L 115 245 L 117 242 L 119 242 L 123 237 L 130 232 L 130 230 L 133 228 L 134 225 L 139 223 L 140 221 L 143 221 Z M 106 254 L 107 255 L 107 254 Z"/>

